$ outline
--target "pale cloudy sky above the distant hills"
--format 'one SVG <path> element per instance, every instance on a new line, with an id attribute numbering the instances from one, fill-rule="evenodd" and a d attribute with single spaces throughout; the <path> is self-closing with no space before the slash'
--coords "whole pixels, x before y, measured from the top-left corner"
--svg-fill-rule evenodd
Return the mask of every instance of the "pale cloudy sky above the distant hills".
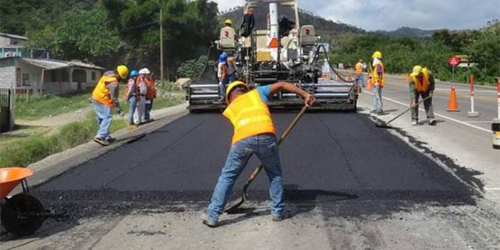
<path id="1" fill-rule="evenodd" d="M 219 10 L 242 6 L 244 0 L 213 0 Z M 367 31 L 401 26 L 422 29 L 481 28 L 500 19 L 500 0 L 299 0 L 299 7 L 333 21 Z"/>

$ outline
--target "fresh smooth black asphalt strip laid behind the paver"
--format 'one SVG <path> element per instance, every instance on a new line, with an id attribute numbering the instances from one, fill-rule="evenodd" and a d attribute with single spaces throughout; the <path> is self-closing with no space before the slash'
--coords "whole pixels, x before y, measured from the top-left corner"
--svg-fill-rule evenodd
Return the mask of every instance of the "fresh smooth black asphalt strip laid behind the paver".
<path id="1" fill-rule="evenodd" d="M 294 115 L 273 114 L 278 133 Z M 49 204 L 60 200 L 144 201 L 138 206 L 146 201 L 206 202 L 224 165 L 231 133 L 220 114 L 187 115 L 56 176 L 35 188 L 35 193 Z M 412 203 L 471 200 L 467 185 L 401 138 L 376 128 L 363 114 L 306 113 L 280 153 L 289 201 L 325 195 Z M 448 163 L 451 169 L 465 172 L 463 176 L 472 176 L 449 159 Z M 234 194 L 239 194 L 256 165 L 252 158 Z M 267 187 L 262 173 L 252 183 L 249 199 L 267 199 Z"/>

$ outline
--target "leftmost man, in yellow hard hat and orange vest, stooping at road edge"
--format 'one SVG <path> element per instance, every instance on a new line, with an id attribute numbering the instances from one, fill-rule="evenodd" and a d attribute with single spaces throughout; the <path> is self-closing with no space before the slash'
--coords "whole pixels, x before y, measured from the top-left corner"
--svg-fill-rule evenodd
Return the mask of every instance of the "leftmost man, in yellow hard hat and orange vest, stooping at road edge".
<path id="1" fill-rule="evenodd" d="M 92 103 L 99 125 L 94 141 L 99 144 L 108 145 L 114 140 L 110 134 L 110 126 L 113 121 L 111 110 L 116 108 L 118 115 L 124 116 L 118 102 L 119 81 L 125 81 L 127 77 L 128 67 L 119 65 L 115 71 L 104 72 L 92 92 Z"/>

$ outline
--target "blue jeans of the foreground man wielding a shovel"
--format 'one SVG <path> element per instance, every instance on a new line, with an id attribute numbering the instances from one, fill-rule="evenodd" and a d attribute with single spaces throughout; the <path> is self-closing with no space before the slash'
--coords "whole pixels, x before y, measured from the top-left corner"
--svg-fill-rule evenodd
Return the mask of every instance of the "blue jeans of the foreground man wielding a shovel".
<path id="1" fill-rule="evenodd" d="M 278 151 L 276 136 L 272 134 L 254 135 L 233 144 L 222 169 L 219 181 L 215 185 L 212 201 L 208 205 L 208 219 L 217 222 L 224 212 L 226 202 L 233 190 L 233 185 L 240 176 L 249 158 L 256 154 L 263 163 L 269 178 L 269 197 L 271 197 L 271 213 L 283 216 L 285 201 L 283 201 L 283 173 Z"/>

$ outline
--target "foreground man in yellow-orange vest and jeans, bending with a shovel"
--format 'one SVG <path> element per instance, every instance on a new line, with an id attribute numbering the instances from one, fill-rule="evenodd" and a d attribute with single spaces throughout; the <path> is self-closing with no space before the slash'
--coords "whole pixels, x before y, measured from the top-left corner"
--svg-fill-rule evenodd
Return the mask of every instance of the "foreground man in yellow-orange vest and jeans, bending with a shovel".
<path id="1" fill-rule="evenodd" d="M 263 163 L 269 177 L 272 219 L 279 222 L 285 218 L 283 176 L 276 128 L 266 105 L 273 94 L 282 90 L 299 95 L 308 106 L 313 105 L 315 101 L 311 94 L 291 83 L 274 83 L 253 90 L 242 81 L 228 85 L 226 90 L 228 106 L 223 115 L 234 127 L 232 146 L 215 186 L 203 224 L 210 227 L 217 226 L 233 185 L 253 154 Z"/>

